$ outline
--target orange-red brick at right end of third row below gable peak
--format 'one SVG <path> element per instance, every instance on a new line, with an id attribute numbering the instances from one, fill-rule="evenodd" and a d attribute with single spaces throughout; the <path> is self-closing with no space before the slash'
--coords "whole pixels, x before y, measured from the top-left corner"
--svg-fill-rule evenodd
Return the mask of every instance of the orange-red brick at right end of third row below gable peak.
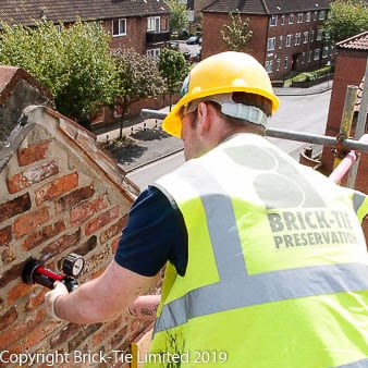
<path id="1" fill-rule="evenodd" d="M 71 174 L 58 177 L 35 192 L 36 205 L 39 206 L 45 200 L 50 200 L 63 194 L 66 194 L 70 191 L 76 188 L 77 185 L 77 172 L 72 172 Z"/>

